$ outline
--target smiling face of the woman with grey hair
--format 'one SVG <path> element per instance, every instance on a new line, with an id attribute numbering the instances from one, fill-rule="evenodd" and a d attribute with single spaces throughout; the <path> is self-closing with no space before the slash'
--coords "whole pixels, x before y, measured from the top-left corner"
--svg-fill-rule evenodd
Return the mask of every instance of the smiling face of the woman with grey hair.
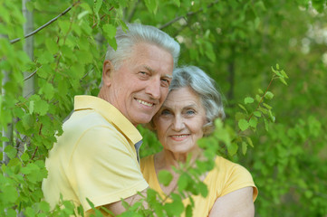
<path id="1" fill-rule="evenodd" d="M 203 137 L 206 110 L 201 100 L 190 88 L 172 90 L 153 118 L 159 141 L 173 153 L 188 153 Z"/>

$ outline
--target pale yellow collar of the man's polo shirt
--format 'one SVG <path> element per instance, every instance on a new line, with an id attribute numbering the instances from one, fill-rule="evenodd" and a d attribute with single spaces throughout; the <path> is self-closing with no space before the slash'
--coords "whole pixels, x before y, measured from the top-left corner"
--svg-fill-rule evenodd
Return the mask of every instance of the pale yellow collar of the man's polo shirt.
<path id="1" fill-rule="evenodd" d="M 99 112 L 103 118 L 119 129 L 125 137 L 128 137 L 133 144 L 142 139 L 139 130 L 130 123 L 128 118 L 121 114 L 119 109 L 116 109 L 108 101 L 93 96 L 75 96 L 74 110 L 82 109 L 94 109 Z"/>

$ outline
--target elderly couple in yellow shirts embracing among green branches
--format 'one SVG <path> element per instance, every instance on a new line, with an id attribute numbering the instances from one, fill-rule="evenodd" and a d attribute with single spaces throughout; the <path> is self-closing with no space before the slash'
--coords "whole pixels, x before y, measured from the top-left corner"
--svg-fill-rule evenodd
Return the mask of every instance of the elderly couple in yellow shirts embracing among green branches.
<path id="1" fill-rule="evenodd" d="M 121 198 L 135 203 L 148 187 L 170 193 L 178 181 L 171 167 L 188 154 L 202 157 L 197 139 L 225 116 L 214 80 L 195 66 L 176 68 L 178 42 L 152 26 L 128 26 L 127 33 L 117 32 L 117 51 L 108 48 L 98 97 L 75 97 L 74 112 L 46 160 L 43 193 L 52 206 L 63 198 L 82 204 L 88 215 L 88 198 L 116 215 L 125 211 Z M 139 161 L 136 126 L 147 123 L 163 150 Z M 168 186 L 159 184 L 160 170 L 174 175 Z M 216 167 L 202 181 L 209 194 L 194 197 L 194 216 L 254 216 L 257 190 L 244 167 L 216 156 Z"/>

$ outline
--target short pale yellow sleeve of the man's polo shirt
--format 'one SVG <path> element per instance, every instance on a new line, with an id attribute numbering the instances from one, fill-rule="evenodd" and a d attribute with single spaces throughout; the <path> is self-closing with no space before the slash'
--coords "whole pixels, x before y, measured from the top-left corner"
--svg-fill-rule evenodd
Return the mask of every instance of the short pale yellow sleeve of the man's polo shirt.
<path id="1" fill-rule="evenodd" d="M 91 127 L 75 146 L 70 161 L 70 180 L 84 211 L 114 203 L 148 187 L 134 146 L 111 127 Z"/>

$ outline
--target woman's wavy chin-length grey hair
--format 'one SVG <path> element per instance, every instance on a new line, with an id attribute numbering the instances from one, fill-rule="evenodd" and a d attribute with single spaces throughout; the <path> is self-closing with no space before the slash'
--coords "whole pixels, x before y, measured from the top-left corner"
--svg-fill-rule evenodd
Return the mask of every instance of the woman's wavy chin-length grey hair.
<path id="1" fill-rule="evenodd" d="M 196 66 L 180 67 L 173 74 L 169 91 L 189 87 L 197 93 L 207 116 L 207 124 L 203 127 L 204 136 L 210 135 L 215 130 L 216 118 L 225 118 L 222 96 L 216 90 L 216 81 Z"/>

